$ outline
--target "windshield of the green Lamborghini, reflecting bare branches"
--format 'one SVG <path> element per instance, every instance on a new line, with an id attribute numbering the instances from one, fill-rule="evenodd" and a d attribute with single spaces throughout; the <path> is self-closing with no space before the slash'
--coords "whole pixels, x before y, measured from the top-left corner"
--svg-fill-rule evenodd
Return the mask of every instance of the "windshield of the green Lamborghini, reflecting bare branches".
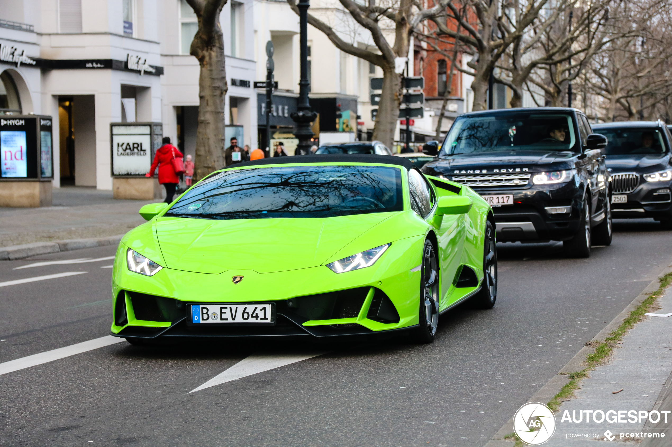
<path id="1" fill-rule="evenodd" d="M 207 178 L 165 216 L 331 217 L 403 209 L 401 170 L 386 166 L 233 169 Z"/>

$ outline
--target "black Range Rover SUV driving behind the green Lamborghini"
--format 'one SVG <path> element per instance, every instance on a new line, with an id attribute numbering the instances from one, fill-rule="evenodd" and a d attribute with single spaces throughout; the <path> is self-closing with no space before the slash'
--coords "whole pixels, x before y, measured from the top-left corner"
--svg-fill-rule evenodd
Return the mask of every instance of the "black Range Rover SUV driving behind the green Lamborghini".
<path id="1" fill-rule="evenodd" d="M 562 241 L 570 255 L 588 257 L 591 244 L 612 242 L 606 143 L 577 109 L 465 113 L 422 171 L 490 202 L 498 241 Z"/>

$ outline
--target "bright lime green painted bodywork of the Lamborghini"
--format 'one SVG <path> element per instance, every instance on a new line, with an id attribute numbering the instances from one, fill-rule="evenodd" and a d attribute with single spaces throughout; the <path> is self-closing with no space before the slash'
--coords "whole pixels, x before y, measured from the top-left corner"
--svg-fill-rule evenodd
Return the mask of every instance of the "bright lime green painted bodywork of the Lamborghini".
<path id="1" fill-rule="evenodd" d="M 338 165 L 343 164 L 348 163 Z M 371 289 L 358 317 L 310 320 L 304 326 L 357 323 L 374 331 L 413 326 L 418 323 L 421 271 L 411 270 L 421 265 L 429 233 L 438 243 L 440 308 L 448 308 L 478 290 L 457 289 L 453 282 L 461 265 L 470 266 L 479 282 L 482 280 L 485 221 L 491 207 L 468 187 L 458 185 L 461 189 L 456 194 L 432 184 L 437 198 L 465 196 L 472 206 L 465 214 L 441 214 L 435 203 L 429 216 L 422 218 L 411 210 L 407 172 L 401 172 L 404 210 L 400 212 L 208 220 L 163 217 L 167 208 L 161 210 L 149 222 L 128 232 L 118 247 L 112 297 L 126 300 L 126 326 L 163 328 L 170 323 L 136 320 L 131 300 L 122 291 L 208 303 L 288 300 L 362 287 Z M 457 185 L 444 179 L 433 180 Z M 159 208 L 158 204 L 151 205 Z M 145 210 L 145 214 L 153 209 Z M 391 243 L 389 249 L 370 267 L 345 273 L 334 273 L 326 267 L 327 263 L 386 243 Z M 128 248 L 164 268 L 151 277 L 128 270 Z M 237 275 L 243 280 L 233 283 L 232 277 Z M 390 298 L 400 316 L 398 323 L 384 324 L 366 318 L 374 288 Z M 112 333 L 126 326 L 113 322 Z"/>

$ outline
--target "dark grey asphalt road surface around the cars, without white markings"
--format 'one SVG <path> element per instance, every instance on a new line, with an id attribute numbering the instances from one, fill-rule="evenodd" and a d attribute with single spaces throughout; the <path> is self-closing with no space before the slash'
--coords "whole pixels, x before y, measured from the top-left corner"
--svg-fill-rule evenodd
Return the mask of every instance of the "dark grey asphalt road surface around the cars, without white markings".
<path id="1" fill-rule="evenodd" d="M 615 227 L 585 260 L 500 244 L 495 308 L 450 312 L 429 345 L 124 341 L 0 375 L 0 445 L 482 446 L 672 262 L 653 220 Z M 0 364 L 106 336 L 112 261 L 95 259 L 114 251 L 0 262 Z M 2 284 L 65 272 L 87 273 Z M 255 353 L 319 351 L 190 393 Z"/>

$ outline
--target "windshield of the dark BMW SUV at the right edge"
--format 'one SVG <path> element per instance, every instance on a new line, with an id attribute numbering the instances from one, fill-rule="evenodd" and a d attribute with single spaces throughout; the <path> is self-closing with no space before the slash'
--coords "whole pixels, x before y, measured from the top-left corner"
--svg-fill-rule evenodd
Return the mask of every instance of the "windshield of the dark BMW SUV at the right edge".
<path id="1" fill-rule="evenodd" d="M 620 127 L 595 131 L 607 137 L 607 155 L 665 152 L 663 135 L 658 129 Z"/>

